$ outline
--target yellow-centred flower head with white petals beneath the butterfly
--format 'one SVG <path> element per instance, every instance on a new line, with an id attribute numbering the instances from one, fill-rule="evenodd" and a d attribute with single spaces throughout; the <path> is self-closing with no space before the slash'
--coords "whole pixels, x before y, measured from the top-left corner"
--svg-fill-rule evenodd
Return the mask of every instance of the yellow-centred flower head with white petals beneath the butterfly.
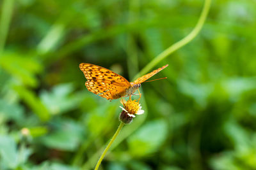
<path id="1" fill-rule="evenodd" d="M 140 103 L 138 101 L 134 100 L 132 101 L 129 99 L 128 101 L 121 101 L 121 103 L 124 105 L 124 108 L 122 108 L 122 113 L 120 114 L 120 120 L 124 122 L 125 124 L 129 124 L 132 121 L 132 118 L 135 117 L 135 115 L 141 115 L 144 113 L 144 110 L 141 110 Z"/>

